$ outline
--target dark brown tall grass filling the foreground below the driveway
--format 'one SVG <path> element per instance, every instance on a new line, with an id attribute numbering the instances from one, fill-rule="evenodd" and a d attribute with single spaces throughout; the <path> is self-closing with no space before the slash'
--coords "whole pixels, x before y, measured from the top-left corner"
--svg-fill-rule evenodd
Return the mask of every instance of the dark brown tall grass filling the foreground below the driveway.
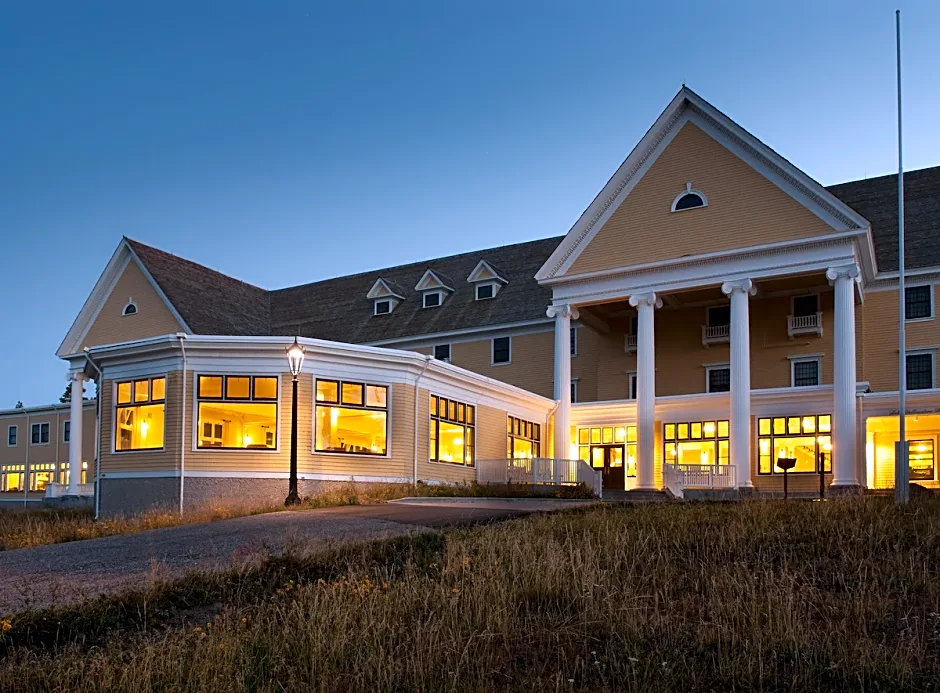
<path id="1" fill-rule="evenodd" d="M 94 647 L 76 636 L 13 648 L 0 690 L 927 691 L 940 681 L 935 499 L 595 507 L 433 546 L 400 561 L 362 552 L 326 571 L 301 561 L 261 597 L 230 576 L 205 622 L 125 622 Z M 25 627 L 11 625 L 11 639 Z"/>

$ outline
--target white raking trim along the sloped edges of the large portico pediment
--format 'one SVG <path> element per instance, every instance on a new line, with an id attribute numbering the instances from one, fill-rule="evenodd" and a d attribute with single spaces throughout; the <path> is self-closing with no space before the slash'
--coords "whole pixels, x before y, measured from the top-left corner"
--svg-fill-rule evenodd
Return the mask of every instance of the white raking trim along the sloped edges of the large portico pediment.
<path id="1" fill-rule="evenodd" d="M 822 185 L 691 89 L 682 87 L 541 267 L 536 279 L 550 281 L 566 274 L 574 274 L 571 268 L 578 257 L 688 123 L 693 123 L 778 189 L 803 205 L 831 229 L 832 233 L 870 228 L 868 220 L 829 193 Z M 695 181 L 691 182 L 695 184 Z M 675 190 L 674 194 L 679 192 L 680 190 Z M 673 196 L 670 195 L 669 199 L 673 199 Z M 667 209 L 668 203 L 667 200 Z"/>

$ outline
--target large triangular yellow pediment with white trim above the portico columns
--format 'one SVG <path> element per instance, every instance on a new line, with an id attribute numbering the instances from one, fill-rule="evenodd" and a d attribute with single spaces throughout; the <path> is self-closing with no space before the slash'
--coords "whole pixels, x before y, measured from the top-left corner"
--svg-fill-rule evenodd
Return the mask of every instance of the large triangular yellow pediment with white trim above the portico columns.
<path id="1" fill-rule="evenodd" d="M 703 204 L 686 197 L 693 191 Z M 536 276 L 551 281 L 869 226 L 683 88 Z"/>

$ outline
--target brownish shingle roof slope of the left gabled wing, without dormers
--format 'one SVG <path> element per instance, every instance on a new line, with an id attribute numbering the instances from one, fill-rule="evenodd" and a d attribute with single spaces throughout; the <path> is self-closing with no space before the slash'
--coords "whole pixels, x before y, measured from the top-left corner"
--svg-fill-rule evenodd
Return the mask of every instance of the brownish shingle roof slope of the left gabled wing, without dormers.
<path id="1" fill-rule="evenodd" d="M 195 334 L 269 334 L 269 292 L 139 241 L 126 240 Z"/>

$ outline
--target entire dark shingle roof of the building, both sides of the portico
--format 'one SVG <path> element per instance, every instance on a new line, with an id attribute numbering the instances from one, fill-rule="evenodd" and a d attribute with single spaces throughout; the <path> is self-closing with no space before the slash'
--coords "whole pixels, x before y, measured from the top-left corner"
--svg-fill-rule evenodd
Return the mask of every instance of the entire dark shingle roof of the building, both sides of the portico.
<path id="1" fill-rule="evenodd" d="M 940 266 L 940 166 L 907 172 L 904 181 L 906 264 L 911 269 Z M 871 222 L 879 270 L 896 271 L 897 176 L 828 190 Z M 298 334 L 369 343 L 544 318 L 551 289 L 539 286 L 535 273 L 561 240 L 516 243 L 275 291 L 138 241 L 128 243 L 197 334 Z M 509 280 L 495 299 L 475 301 L 474 287 L 466 281 L 480 260 Z M 413 290 L 428 269 L 455 289 L 438 308 L 422 308 Z M 379 278 L 405 300 L 390 314 L 376 316 L 366 293 Z"/>

